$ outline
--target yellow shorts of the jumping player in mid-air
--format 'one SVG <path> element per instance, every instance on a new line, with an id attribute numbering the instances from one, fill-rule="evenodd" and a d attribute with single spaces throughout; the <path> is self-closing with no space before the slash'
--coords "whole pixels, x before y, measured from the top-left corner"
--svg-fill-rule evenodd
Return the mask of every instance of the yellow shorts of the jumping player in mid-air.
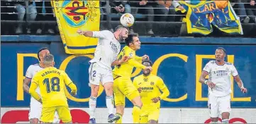
<path id="1" fill-rule="evenodd" d="M 135 97 L 140 97 L 138 89 L 135 88 L 130 78 L 113 76 L 113 94 L 116 106 L 125 106 L 126 97 L 131 101 Z"/>

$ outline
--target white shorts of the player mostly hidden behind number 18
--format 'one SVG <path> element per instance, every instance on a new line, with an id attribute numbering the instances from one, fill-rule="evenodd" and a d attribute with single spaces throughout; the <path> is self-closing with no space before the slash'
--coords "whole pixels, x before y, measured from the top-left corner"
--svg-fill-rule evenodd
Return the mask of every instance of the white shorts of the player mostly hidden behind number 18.
<path id="1" fill-rule="evenodd" d="M 40 102 L 38 102 L 37 100 L 31 98 L 28 119 L 30 120 L 33 118 L 37 118 L 38 120 L 40 120 L 41 112 L 42 112 L 42 104 L 40 104 Z M 54 117 L 53 123 L 60 123 L 60 119 L 59 119 L 59 115 L 57 114 L 57 111 L 55 111 L 55 117 Z"/>

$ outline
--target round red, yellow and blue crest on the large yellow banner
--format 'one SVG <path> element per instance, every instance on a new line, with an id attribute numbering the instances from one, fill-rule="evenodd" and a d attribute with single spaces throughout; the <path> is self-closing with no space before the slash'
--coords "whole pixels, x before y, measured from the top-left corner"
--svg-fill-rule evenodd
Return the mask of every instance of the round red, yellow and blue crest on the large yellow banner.
<path id="1" fill-rule="evenodd" d="M 62 3 L 61 11 L 63 18 L 70 26 L 79 27 L 87 23 L 88 19 L 94 22 L 96 17 L 95 7 L 95 1 L 65 0 Z"/>

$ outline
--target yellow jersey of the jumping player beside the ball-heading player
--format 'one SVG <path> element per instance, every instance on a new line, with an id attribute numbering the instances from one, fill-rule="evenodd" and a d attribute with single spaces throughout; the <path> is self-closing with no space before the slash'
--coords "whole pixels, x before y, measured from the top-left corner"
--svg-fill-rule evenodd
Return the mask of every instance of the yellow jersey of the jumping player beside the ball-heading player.
<path id="1" fill-rule="evenodd" d="M 141 63 L 142 57 L 136 56 L 135 51 L 130 49 L 129 46 L 123 47 L 120 54 L 118 54 L 118 60 L 123 58 L 123 56 L 129 56 L 130 59 L 121 65 L 115 66 L 113 74 L 130 78 L 134 67 L 142 69 L 146 68 L 146 66 Z"/>

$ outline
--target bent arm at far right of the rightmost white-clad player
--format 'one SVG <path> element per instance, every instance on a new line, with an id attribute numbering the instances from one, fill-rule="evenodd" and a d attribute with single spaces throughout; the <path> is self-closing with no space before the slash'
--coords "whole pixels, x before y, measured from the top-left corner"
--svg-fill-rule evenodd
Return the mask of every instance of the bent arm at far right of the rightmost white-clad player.
<path id="1" fill-rule="evenodd" d="M 231 75 L 234 77 L 235 82 L 238 84 L 238 87 L 241 89 L 241 92 L 246 93 L 247 89 L 243 87 L 243 81 L 238 75 L 238 70 L 236 70 L 235 66 L 232 65 Z"/>

